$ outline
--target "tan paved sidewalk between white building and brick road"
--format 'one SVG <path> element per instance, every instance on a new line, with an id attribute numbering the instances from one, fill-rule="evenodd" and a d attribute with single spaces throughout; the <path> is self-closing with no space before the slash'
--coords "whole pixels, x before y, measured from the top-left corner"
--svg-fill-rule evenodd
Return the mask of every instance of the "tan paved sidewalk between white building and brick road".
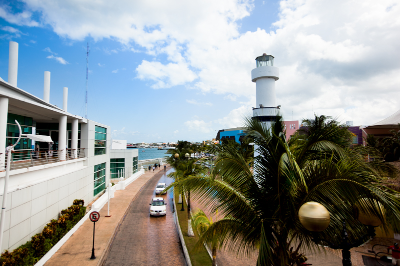
<path id="1" fill-rule="evenodd" d="M 132 199 L 143 185 L 158 173 L 162 175 L 164 171 L 145 172 L 124 190 L 115 191 L 114 198 L 110 200 L 109 204 L 111 217 L 104 217 L 107 215 L 107 204 L 100 210 L 100 219 L 96 222 L 94 236 L 94 255 L 96 259 L 90 260 L 93 244 L 93 223 L 87 219 L 44 265 L 96 266 L 101 264 L 107 257 L 109 245 Z"/>

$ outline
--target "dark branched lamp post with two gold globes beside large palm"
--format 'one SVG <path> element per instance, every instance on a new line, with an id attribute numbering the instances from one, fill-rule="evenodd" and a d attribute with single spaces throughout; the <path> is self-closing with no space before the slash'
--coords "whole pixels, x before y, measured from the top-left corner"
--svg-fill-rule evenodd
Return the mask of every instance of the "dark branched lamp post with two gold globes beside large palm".
<path id="1" fill-rule="evenodd" d="M 380 203 L 374 203 L 376 204 L 374 205 L 378 206 L 380 210 L 383 210 L 383 207 L 380 205 Z M 366 205 L 368 205 L 366 199 L 360 199 L 355 204 L 355 207 L 357 209 L 357 220 L 363 225 L 367 226 L 368 231 L 365 235 L 363 235 L 353 243 L 348 242 L 346 222 L 342 223 L 342 239 L 339 245 L 332 244 L 327 240 L 317 237 L 316 232 L 322 232 L 323 230 L 325 230 L 330 222 L 330 215 L 328 210 L 326 210 L 326 208 L 320 203 L 304 203 L 298 210 L 298 219 L 305 229 L 312 232 L 312 242 L 314 242 L 315 244 L 318 244 L 319 242 L 324 242 L 328 244 L 327 246 L 333 250 L 342 250 L 342 265 L 351 266 L 350 249 L 360 246 L 362 243 L 364 243 L 363 240 L 366 237 L 374 237 L 374 228 L 381 224 L 379 218 L 365 208 Z"/>

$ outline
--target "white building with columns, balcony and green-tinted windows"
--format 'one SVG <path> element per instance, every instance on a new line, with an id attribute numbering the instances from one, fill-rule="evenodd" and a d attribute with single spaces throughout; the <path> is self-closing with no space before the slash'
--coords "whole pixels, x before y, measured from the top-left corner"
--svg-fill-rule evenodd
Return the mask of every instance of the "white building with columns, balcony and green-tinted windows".
<path id="1" fill-rule="evenodd" d="M 47 71 L 43 99 L 18 88 L 17 57 L 18 44 L 10 42 L 8 82 L 0 78 L 0 204 L 6 143 L 15 143 L 19 134 L 14 120 L 23 134 L 35 129 L 54 143 L 39 142 L 39 152 L 34 152 L 31 140 L 21 138 L 12 153 L 2 251 L 29 241 L 51 219 L 58 219 L 74 199 L 90 203 L 103 193 L 110 173 L 110 127 L 68 113 L 67 88 L 63 89 L 63 108 L 52 105 Z M 123 151 L 121 157 L 125 161 L 130 156 L 130 172 L 125 177 L 137 172 L 137 150 L 129 152 Z M 112 158 L 118 159 L 118 154 Z"/>

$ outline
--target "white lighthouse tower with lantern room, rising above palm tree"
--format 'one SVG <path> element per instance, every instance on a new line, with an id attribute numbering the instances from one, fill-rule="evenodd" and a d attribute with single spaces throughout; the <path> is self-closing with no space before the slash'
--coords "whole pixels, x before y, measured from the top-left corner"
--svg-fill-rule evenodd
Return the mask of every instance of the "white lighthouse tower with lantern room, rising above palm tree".
<path id="1" fill-rule="evenodd" d="M 275 102 L 275 81 L 279 79 L 279 68 L 273 66 L 273 56 L 265 53 L 255 58 L 256 67 L 251 70 L 251 81 L 255 82 L 253 118 L 268 126 L 276 119 L 280 106 Z"/>

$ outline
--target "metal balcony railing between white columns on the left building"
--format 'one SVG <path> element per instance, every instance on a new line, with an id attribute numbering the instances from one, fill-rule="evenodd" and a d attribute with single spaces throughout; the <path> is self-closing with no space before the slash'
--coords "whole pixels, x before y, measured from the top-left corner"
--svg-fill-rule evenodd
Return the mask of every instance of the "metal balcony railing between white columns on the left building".
<path id="1" fill-rule="evenodd" d="M 66 149 L 65 160 L 84 158 L 84 149 Z M 11 153 L 10 170 L 45 165 L 59 162 L 57 151 L 44 150 L 36 152 L 34 150 L 16 150 Z M 5 154 L 5 165 L 7 164 L 7 154 Z"/>

